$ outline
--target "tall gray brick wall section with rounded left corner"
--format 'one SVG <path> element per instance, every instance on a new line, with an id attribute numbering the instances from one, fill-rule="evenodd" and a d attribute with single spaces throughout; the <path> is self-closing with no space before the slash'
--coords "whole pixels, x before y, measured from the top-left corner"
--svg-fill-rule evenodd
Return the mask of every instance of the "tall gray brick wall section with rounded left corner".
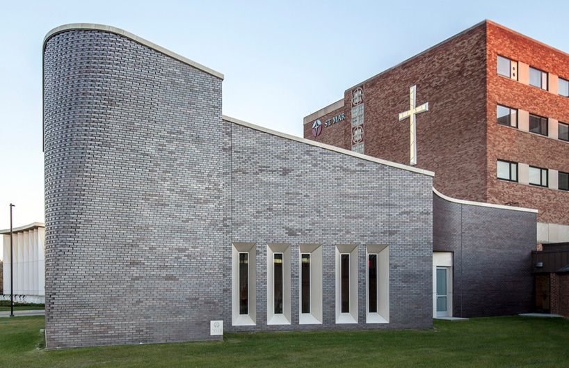
<path id="1" fill-rule="evenodd" d="M 47 347 L 219 339 L 221 80 L 102 31 L 44 68 Z"/>

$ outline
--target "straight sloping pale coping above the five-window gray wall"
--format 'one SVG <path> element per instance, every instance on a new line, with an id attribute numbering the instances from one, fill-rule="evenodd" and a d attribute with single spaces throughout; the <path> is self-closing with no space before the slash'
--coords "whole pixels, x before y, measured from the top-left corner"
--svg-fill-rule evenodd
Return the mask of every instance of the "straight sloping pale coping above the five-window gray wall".
<path id="1" fill-rule="evenodd" d="M 316 142 L 316 141 L 310 141 L 310 139 L 298 138 L 297 136 L 291 136 L 289 134 L 281 133 L 280 131 L 275 131 L 275 130 L 267 129 L 264 127 L 259 127 L 258 125 L 253 125 L 253 124 L 250 124 L 249 122 L 244 122 L 244 121 L 239 120 L 239 119 L 230 118 L 227 115 L 222 115 L 221 118 L 227 122 L 233 122 L 234 124 L 237 124 L 237 125 L 243 125 L 243 127 L 248 127 L 250 129 L 262 131 L 266 134 L 271 134 L 273 136 L 279 136 L 281 138 L 290 139 L 291 141 L 296 141 L 296 142 L 304 143 L 307 145 L 313 145 L 314 147 L 320 147 L 320 148 L 323 148 L 323 149 L 329 150 L 329 151 L 347 154 L 348 156 L 358 157 L 358 159 L 364 159 L 367 161 L 380 163 L 380 164 L 385 165 L 385 166 L 391 166 L 392 168 L 400 168 L 401 170 L 411 171 L 412 173 L 423 174 L 423 175 L 427 175 L 430 177 L 435 176 L 435 173 L 433 173 L 432 171 L 423 170 L 420 168 L 413 168 L 411 166 L 406 166 L 406 165 L 401 165 L 401 163 L 395 163 L 395 162 L 391 162 L 391 161 L 385 161 L 382 159 L 376 159 L 375 157 L 366 156 L 365 154 L 344 150 L 344 148 L 335 147 L 333 145 L 326 145 L 324 143 L 320 143 L 320 142 Z"/>

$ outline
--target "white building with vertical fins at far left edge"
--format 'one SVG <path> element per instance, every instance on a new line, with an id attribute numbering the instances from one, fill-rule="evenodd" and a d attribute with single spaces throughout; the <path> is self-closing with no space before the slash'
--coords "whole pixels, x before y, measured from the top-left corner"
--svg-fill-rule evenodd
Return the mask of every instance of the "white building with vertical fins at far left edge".
<path id="1" fill-rule="evenodd" d="M 3 238 L 3 299 L 10 300 L 10 229 Z M 45 303 L 45 225 L 31 223 L 13 228 L 14 302 Z"/>

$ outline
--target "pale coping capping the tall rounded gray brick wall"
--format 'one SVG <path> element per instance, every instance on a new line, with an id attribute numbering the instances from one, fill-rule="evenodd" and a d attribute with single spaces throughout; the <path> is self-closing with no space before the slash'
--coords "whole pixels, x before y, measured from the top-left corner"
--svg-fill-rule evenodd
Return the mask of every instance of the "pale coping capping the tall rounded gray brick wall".
<path id="1" fill-rule="evenodd" d="M 122 35 L 126 38 L 133 40 L 134 42 L 138 42 L 141 45 L 144 45 L 146 47 L 150 47 L 151 49 L 159 51 L 166 56 L 170 56 L 171 58 L 175 58 L 178 61 L 182 61 L 182 63 L 184 63 L 184 64 L 187 64 L 187 65 L 190 65 L 192 67 L 195 67 L 196 69 L 202 70 L 202 72 L 206 72 L 207 74 L 211 74 L 214 77 L 217 77 L 221 80 L 224 79 L 223 74 L 221 74 L 220 72 L 216 72 L 213 69 L 209 69 L 209 67 L 201 65 L 199 63 L 196 63 L 195 61 L 191 61 L 189 58 L 184 58 L 184 56 L 178 55 L 175 52 L 172 52 L 168 49 L 164 49 L 163 47 L 156 45 L 156 44 L 154 44 L 148 40 L 145 40 L 144 38 L 138 37 L 138 35 L 134 35 L 130 32 L 124 31 L 122 29 L 119 29 L 119 28 L 116 28 L 113 26 L 104 26 L 102 24 L 72 23 L 72 24 L 65 24 L 63 26 L 58 26 L 58 27 L 52 29 L 51 31 L 49 31 L 47 33 L 47 35 L 45 35 L 45 38 L 43 40 L 44 49 L 45 49 L 45 42 L 47 42 L 47 40 L 49 40 L 49 38 L 51 38 L 51 36 L 56 35 L 57 33 L 70 31 L 72 29 L 89 29 L 89 30 L 93 30 L 93 31 L 105 31 L 105 32 L 109 32 L 109 33 L 115 33 L 117 35 Z"/>

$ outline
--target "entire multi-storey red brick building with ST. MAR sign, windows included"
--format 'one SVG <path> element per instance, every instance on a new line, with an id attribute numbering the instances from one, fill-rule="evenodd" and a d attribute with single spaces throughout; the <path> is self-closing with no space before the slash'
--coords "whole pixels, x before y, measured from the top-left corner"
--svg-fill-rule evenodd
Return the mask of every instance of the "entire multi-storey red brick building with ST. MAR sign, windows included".
<path id="1" fill-rule="evenodd" d="M 569 241 L 568 54 L 486 20 L 348 88 L 304 137 L 409 165 L 412 86 L 428 103 L 415 164 L 436 189 L 538 209 L 538 243 Z"/>

